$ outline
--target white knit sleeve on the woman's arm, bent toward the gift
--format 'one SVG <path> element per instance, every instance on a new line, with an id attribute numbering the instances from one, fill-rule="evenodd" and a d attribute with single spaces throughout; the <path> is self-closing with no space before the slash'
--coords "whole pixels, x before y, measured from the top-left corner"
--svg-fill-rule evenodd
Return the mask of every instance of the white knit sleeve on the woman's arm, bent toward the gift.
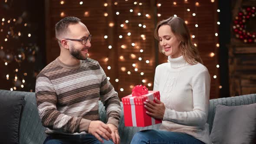
<path id="1" fill-rule="evenodd" d="M 180 112 L 166 108 L 164 121 L 187 126 L 203 126 L 206 123 L 210 97 L 210 75 L 207 70 L 199 72 L 192 78 L 192 91 L 193 110 Z"/>

